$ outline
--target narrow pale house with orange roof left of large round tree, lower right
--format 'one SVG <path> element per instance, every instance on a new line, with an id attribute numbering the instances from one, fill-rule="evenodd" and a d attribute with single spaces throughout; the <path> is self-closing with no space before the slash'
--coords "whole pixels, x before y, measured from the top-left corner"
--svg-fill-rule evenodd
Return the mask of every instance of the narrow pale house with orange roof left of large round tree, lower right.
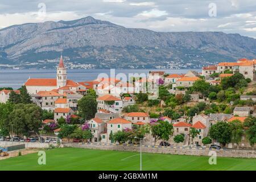
<path id="1" fill-rule="evenodd" d="M 203 146 L 202 139 L 207 137 L 209 128 L 207 128 L 201 121 L 193 122 L 191 127 L 199 131 L 199 134 L 193 139 L 193 144 L 195 144 L 195 146 Z"/>

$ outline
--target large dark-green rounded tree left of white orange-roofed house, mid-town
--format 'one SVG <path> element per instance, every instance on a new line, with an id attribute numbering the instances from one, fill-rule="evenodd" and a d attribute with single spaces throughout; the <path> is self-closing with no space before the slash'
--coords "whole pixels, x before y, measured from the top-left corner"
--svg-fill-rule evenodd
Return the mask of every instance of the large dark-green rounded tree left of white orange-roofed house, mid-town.
<path id="1" fill-rule="evenodd" d="M 97 113 L 97 101 L 94 96 L 84 96 L 79 102 L 79 112 L 82 117 L 89 120 L 94 118 L 95 113 Z"/>

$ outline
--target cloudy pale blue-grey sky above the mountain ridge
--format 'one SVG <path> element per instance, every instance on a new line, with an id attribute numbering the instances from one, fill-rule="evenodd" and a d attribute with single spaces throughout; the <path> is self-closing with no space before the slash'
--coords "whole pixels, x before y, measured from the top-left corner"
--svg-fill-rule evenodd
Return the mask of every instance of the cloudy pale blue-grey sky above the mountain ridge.
<path id="1" fill-rule="evenodd" d="M 256 38 L 255 0 L 0 0 L 0 28 L 93 16 L 153 31 L 222 31 Z"/>

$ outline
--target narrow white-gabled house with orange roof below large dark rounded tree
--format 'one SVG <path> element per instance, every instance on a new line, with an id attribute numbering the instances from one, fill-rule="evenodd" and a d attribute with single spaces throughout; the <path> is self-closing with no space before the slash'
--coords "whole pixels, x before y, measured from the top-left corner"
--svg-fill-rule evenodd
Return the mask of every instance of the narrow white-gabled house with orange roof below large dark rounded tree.
<path id="1" fill-rule="evenodd" d="M 104 133 L 105 131 L 105 122 L 103 122 L 100 118 L 92 118 L 88 123 L 93 134 L 92 142 L 100 142 L 101 133 Z M 105 139 L 105 137 L 102 139 Z"/>

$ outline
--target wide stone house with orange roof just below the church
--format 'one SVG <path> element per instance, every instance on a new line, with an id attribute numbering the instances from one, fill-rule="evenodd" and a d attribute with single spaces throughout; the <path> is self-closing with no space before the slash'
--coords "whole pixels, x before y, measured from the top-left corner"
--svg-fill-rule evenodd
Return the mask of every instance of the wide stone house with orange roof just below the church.
<path id="1" fill-rule="evenodd" d="M 42 107 L 42 109 L 52 110 L 55 108 L 55 101 L 63 98 L 63 94 L 54 91 L 39 91 L 36 94 L 31 94 L 32 101 Z"/>

